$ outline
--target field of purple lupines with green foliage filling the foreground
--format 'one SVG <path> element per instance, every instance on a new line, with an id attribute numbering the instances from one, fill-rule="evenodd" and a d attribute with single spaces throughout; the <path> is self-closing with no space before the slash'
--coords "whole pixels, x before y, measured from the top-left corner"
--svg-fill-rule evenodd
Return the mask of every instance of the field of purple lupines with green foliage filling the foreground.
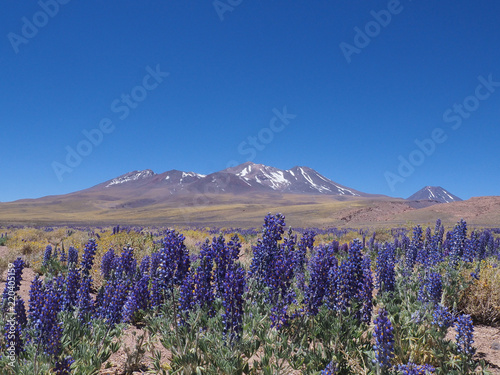
<path id="1" fill-rule="evenodd" d="M 143 334 L 124 373 L 154 340 L 169 353 L 148 349 L 158 374 L 487 373 L 473 324 L 500 322 L 495 231 L 438 220 L 365 240 L 286 230 L 276 214 L 258 233 L 213 231 L 191 251 L 175 230 L 135 230 L 116 248 L 123 232 L 95 230 L 79 248 L 67 231 L 39 261 L 22 239 L 2 296 L 2 374 L 99 373 L 130 325 Z M 243 251 L 248 236 L 258 240 Z M 40 276 L 24 301 L 27 265 Z"/>

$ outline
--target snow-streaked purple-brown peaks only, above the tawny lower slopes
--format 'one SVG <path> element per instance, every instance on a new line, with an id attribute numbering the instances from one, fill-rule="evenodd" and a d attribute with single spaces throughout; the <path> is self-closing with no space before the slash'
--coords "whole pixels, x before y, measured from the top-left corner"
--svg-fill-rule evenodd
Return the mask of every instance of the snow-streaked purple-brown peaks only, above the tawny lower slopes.
<path id="1" fill-rule="evenodd" d="M 296 166 L 281 170 L 263 164 L 246 162 L 209 175 L 170 170 L 156 174 L 150 169 L 133 171 L 99 184 L 92 190 L 111 193 L 113 189 L 132 189 L 135 194 L 161 189 L 163 194 L 249 194 L 290 193 L 325 194 L 346 197 L 383 197 L 341 185 L 309 167 Z M 115 190 L 118 191 L 118 190 Z M 160 194 L 161 195 L 161 194 Z M 461 201 L 440 186 L 426 186 L 409 198 L 409 201 L 450 203 Z"/>

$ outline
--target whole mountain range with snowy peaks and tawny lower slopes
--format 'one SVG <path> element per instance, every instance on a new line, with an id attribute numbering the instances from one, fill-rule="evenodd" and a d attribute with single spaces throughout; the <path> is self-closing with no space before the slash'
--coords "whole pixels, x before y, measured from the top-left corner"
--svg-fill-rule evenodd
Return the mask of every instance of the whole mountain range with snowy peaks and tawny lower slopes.
<path id="1" fill-rule="evenodd" d="M 0 203 L 0 223 L 255 227 L 268 212 L 291 216 L 294 226 L 452 223 L 462 217 L 498 225 L 500 199 L 461 201 L 430 186 L 408 199 L 393 198 L 344 186 L 305 166 L 281 170 L 247 162 L 208 175 L 133 171 L 69 194 Z"/>

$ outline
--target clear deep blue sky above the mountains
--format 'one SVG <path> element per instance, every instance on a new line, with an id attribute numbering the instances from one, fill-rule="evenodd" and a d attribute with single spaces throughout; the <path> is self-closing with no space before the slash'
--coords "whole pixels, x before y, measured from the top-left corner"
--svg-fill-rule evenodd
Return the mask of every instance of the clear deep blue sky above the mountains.
<path id="1" fill-rule="evenodd" d="M 478 79 L 500 82 L 498 1 L 54 1 L 0 5 L 0 201 L 249 159 L 369 193 L 500 195 L 500 84 Z"/>

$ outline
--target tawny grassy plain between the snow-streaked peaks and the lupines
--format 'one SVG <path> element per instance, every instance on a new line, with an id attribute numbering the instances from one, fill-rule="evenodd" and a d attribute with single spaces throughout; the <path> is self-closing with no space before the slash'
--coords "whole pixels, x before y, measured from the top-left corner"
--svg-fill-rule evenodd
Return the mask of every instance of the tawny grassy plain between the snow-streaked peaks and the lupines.
<path id="1" fill-rule="evenodd" d="M 100 194 L 45 197 L 0 203 L 0 224 L 162 225 L 259 227 L 268 212 L 282 212 L 295 227 L 391 227 L 408 222 L 500 227 L 500 197 L 430 204 L 389 197 L 332 197 L 304 194 L 177 194 L 170 199 Z M 423 208 L 420 208 L 423 207 Z"/>

